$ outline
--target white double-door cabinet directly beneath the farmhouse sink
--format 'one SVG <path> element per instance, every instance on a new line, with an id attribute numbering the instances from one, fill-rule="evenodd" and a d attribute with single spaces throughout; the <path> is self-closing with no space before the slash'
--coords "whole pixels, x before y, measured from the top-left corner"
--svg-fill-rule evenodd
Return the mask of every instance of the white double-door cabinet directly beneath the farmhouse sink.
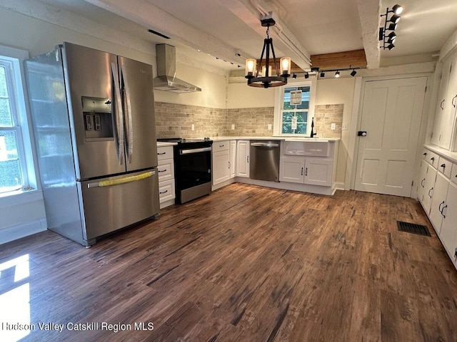
<path id="1" fill-rule="evenodd" d="M 325 157 L 281 156 L 281 182 L 331 186 L 333 160 Z"/>

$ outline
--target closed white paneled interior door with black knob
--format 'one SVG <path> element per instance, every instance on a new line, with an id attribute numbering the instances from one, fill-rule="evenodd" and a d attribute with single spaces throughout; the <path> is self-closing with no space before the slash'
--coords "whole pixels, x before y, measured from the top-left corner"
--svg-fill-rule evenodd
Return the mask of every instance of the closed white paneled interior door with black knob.
<path id="1" fill-rule="evenodd" d="M 411 196 L 426 77 L 368 81 L 355 190 Z"/>

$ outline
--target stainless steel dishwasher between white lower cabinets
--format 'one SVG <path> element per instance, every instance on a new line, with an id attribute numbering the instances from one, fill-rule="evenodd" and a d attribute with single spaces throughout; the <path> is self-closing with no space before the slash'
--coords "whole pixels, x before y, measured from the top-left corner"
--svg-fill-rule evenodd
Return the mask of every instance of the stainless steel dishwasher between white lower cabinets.
<path id="1" fill-rule="evenodd" d="M 249 177 L 279 182 L 279 140 L 251 140 Z"/>

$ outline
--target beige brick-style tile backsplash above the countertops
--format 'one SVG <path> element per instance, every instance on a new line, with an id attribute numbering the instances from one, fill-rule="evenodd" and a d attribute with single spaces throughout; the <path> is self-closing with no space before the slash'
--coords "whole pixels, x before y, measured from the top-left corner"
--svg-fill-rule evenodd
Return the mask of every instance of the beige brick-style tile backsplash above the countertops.
<path id="1" fill-rule="evenodd" d="M 273 135 L 273 130 L 268 130 L 273 118 L 273 107 L 221 109 L 156 102 L 157 138 L 269 137 Z M 335 130 L 331 130 L 332 123 Z M 316 105 L 314 130 L 318 138 L 341 138 L 342 123 L 343 105 Z"/>

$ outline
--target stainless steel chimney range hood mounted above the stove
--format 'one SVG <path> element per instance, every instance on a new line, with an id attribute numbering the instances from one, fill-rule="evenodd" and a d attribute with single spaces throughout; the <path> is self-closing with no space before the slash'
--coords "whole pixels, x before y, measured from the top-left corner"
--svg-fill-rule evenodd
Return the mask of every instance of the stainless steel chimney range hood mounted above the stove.
<path id="1" fill-rule="evenodd" d="M 176 78 L 176 48 L 168 44 L 157 44 L 157 77 L 154 89 L 171 93 L 193 93 L 201 88 Z"/>

